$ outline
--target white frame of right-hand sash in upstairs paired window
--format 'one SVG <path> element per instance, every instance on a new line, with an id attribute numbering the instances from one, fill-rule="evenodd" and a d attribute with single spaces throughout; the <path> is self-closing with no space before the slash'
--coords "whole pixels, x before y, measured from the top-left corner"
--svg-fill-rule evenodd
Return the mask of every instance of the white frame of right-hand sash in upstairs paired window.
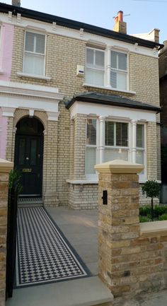
<path id="1" fill-rule="evenodd" d="M 112 67 L 112 62 L 111 62 L 111 52 L 116 52 L 116 53 L 120 53 L 120 54 L 125 54 L 127 56 L 127 70 L 122 70 L 122 69 L 118 69 L 118 68 L 113 68 Z M 117 65 L 118 65 L 118 60 L 117 60 Z M 115 71 L 116 73 L 122 73 L 122 74 L 125 74 L 126 75 L 126 88 L 117 88 L 117 87 L 112 87 L 111 86 L 111 78 L 110 78 L 110 87 L 113 89 L 113 90 L 128 90 L 129 89 L 129 57 L 128 57 L 128 53 L 123 51 L 123 50 L 120 50 L 120 49 L 110 49 L 110 73 L 111 71 Z"/>

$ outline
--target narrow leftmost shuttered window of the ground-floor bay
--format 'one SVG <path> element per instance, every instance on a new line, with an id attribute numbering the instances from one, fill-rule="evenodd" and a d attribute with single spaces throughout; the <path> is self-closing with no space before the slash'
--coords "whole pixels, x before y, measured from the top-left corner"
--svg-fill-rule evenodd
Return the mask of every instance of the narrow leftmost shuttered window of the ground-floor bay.
<path id="1" fill-rule="evenodd" d="M 86 126 L 86 158 L 85 172 L 86 175 L 92 175 L 96 165 L 96 119 L 87 119 Z"/>

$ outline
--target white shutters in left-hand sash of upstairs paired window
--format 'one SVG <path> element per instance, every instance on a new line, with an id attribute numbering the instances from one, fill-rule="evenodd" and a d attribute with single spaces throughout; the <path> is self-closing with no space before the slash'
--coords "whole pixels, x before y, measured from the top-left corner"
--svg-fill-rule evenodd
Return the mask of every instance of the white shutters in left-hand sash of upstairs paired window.
<path id="1" fill-rule="evenodd" d="M 103 86 L 104 84 L 104 52 L 86 49 L 86 83 Z"/>

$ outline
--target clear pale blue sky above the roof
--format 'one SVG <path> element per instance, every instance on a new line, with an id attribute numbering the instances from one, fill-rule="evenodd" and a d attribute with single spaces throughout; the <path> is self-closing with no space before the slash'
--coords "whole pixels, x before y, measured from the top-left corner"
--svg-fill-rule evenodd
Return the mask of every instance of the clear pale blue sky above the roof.
<path id="1" fill-rule="evenodd" d="M 1 1 L 11 4 L 11 0 Z M 113 30 L 117 11 L 123 11 L 127 34 L 160 30 L 160 42 L 167 40 L 167 0 L 21 0 L 21 6 L 55 16 Z"/>

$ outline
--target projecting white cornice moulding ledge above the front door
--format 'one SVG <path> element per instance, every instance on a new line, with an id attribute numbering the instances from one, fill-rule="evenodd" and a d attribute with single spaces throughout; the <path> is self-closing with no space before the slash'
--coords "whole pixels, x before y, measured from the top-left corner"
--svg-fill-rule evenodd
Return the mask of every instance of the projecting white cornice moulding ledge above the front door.
<path id="1" fill-rule="evenodd" d="M 58 88 L 37 86 L 24 83 L 0 81 L 0 95 L 16 95 L 31 98 L 50 99 L 50 100 L 63 100 L 64 94 L 59 93 Z"/>

